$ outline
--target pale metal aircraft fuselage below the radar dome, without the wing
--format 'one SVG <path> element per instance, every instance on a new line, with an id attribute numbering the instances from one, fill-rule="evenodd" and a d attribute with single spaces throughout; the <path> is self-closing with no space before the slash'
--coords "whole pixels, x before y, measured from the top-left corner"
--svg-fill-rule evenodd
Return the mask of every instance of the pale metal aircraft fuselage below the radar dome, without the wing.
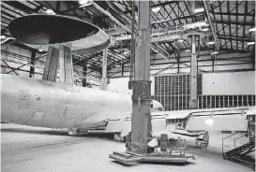
<path id="1" fill-rule="evenodd" d="M 2 122 L 68 128 L 68 135 L 73 136 L 132 111 L 128 94 L 7 74 L 1 75 L 1 100 Z M 155 100 L 151 101 L 151 108 L 163 109 Z"/>

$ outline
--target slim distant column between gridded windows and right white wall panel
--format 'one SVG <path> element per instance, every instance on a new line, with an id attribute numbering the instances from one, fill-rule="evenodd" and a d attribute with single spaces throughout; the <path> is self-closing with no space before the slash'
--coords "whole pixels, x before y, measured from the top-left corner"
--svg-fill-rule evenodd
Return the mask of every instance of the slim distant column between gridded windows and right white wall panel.
<path id="1" fill-rule="evenodd" d="M 190 59 L 190 102 L 189 108 L 197 108 L 197 56 L 196 36 L 191 36 L 191 59 Z"/>

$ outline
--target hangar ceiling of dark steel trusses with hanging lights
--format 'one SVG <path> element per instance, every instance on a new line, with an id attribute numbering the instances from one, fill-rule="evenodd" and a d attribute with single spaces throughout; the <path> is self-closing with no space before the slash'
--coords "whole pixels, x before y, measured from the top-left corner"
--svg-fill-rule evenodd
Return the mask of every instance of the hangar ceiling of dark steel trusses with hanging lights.
<path id="1" fill-rule="evenodd" d="M 119 0 L 86 2 L 82 5 L 79 1 L 1 1 L 1 35 L 9 36 L 8 22 L 27 14 L 55 13 L 74 17 L 98 25 L 112 36 L 113 40 L 120 39 L 109 48 L 108 69 L 128 64 L 130 40 L 122 37 L 130 36 L 131 33 L 132 2 Z M 197 1 L 196 5 L 204 8 L 198 15 L 194 15 L 191 1 L 152 1 L 150 16 L 152 33 L 157 33 L 158 37 L 158 33 L 177 30 L 185 24 L 210 20 L 210 32 L 213 38 L 216 36 L 217 46 L 207 45 L 209 39 L 201 37 L 200 50 L 214 51 L 218 47 L 219 52 L 247 53 L 253 61 L 255 45 L 248 43 L 255 42 L 255 32 L 249 32 L 249 29 L 255 27 L 255 1 Z M 135 7 L 135 11 L 137 9 L 138 7 Z M 134 21 L 135 28 L 137 19 Z M 12 44 L 23 46 L 18 42 Z M 166 59 L 178 59 L 178 53 L 190 50 L 190 46 L 189 40 L 164 39 L 151 43 L 151 54 L 160 54 Z M 1 51 L 1 53 L 7 52 Z M 96 52 L 75 56 L 73 64 L 82 66 L 86 64 L 100 71 L 102 55 L 102 52 Z M 17 54 L 13 54 L 13 57 L 15 56 Z M 239 62 L 241 59 L 237 57 L 236 60 Z M 37 63 L 42 62 L 38 60 Z"/>

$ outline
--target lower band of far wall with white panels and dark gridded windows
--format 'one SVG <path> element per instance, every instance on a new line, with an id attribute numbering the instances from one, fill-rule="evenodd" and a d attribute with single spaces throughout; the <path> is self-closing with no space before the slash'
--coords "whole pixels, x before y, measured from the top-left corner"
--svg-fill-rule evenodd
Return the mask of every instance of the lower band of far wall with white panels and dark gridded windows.
<path id="1" fill-rule="evenodd" d="M 128 73 L 124 73 L 128 76 Z M 151 76 L 152 98 L 166 110 L 189 108 L 189 75 L 162 74 Z M 198 80 L 198 108 L 229 108 L 255 105 L 255 71 L 205 73 Z M 217 87 L 215 88 L 215 83 Z M 220 92 L 225 87 L 227 92 Z M 110 79 L 109 91 L 128 93 L 128 77 Z"/>

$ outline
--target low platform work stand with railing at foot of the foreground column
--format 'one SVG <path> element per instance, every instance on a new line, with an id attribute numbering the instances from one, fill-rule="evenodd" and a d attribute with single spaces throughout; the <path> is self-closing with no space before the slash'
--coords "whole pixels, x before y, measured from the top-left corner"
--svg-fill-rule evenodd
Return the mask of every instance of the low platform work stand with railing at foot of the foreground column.
<path id="1" fill-rule="evenodd" d="M 109 157 L 121 165 L 135 165 L 138 163 L 170 163 L 170 165 L 172 163 L 178 163 L 185 165 L 188 160 L 196 159 L 194 155 L 186 153 L 185 139 L 169 139 L 165 135 L 161 135 L 155 139 L 158 140 L 158 146 L 154 148 L 144 146 L 145 153 L 143 154 L 130 151 L 131 143 L 128 139 L 127 150 L 125 152 L 113 151 Z"/>

